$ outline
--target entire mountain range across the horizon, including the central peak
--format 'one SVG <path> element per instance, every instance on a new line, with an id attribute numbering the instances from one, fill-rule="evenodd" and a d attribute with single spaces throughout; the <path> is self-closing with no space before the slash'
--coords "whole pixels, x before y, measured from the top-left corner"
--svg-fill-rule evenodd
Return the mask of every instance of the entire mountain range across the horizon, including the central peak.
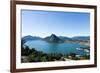
<path id="1" fill-rule="evenodd" d="M 30 40 L 44 40 L 50 43 L 63 43 L 65 41 L 87 41 L 89 39 L 89 36 L 76 36 L 69 38 L 65 36 L 56 36 L 55 34 L 51 34 L 50 36 L 47 36 L 45 38 L 30 35 L 22 37 L 22 41 L 24 41 L 24 43 Z"/>

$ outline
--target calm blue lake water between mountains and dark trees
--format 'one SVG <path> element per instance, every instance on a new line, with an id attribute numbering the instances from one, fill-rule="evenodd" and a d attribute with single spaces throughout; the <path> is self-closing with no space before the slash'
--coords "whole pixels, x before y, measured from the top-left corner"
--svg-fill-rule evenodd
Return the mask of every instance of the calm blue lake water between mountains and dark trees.
<path id="1" fill-rule="evenodd" d="M 61 53 L 69 54 L 76 53 L 78 55 L 88 54 L 84 50 L 77 50 L 76 48 L 86 47 L 77 43 L 48 43 L 43 40 L 28 41 L 24 45 L 29 46 L 29 48 L 35 48 L 37 51 L 42 51 L 44 53 Z"/>

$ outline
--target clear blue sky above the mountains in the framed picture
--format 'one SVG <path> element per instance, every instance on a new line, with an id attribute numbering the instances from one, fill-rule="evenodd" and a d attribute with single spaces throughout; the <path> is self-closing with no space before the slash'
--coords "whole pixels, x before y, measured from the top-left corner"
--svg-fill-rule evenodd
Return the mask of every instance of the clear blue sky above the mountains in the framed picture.
<path id="1" fill-rule="evenodd" d="M 22 36 L 89 36 L 90 14 L 22 10 Z"/>

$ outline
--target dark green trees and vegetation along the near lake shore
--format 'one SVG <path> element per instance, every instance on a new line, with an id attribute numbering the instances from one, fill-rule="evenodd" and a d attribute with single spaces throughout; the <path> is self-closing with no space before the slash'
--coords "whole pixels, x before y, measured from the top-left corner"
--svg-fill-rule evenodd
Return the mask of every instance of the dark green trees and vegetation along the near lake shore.
<path id="1" fill-rule="evenodd" d="M 89 59 L 89 55 L 77 56 L 75 53 L 59 54 L 50 53 L 46 54 L 41 51 L 35 50 L 35 48 L 29 49 L 28 46 L 21 49 L 21 61 L 22 62 L 48 62 L 48 61 L 66 61 L 66 60 L 85 60 Z"/>

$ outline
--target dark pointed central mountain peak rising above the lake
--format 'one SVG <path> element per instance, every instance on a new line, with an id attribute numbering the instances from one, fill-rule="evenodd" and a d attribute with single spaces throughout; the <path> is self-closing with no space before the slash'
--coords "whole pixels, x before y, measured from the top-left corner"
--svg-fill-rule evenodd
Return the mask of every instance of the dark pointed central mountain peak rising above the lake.
<path id="1" fill-rule="evenodd" d="M 51 36 L 44 38 L 44 40 L 47 41 L 47 42 L 51 42 L 51 43 L 62 43 L 62 42 L 64 42 L 59 37 L 57 37 L 55 34 L 52 34 Z"/>

